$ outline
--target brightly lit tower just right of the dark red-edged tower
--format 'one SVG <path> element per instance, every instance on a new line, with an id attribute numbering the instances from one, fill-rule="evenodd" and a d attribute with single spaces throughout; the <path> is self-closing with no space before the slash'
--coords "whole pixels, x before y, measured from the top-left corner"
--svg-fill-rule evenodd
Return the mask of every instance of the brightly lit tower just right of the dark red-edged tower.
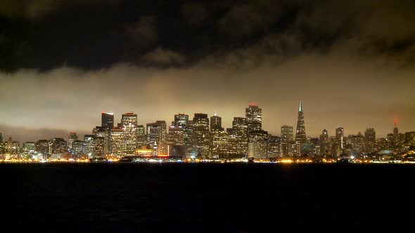
<path id="1" fill-rule="evenodd" d="M 122 114 L 121 124 L 124 131 L 122 154 L 134 155 L 137 140 L 137 114 L 134 114 L 134 112 Z"/>

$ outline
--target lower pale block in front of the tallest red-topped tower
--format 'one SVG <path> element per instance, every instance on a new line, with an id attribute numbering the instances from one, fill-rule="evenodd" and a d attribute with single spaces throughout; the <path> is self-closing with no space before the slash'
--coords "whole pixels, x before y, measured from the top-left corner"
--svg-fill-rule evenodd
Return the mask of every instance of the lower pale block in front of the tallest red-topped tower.
<path id="1" fill-rule="evenodd" d="M 267 158 L 267 131 L 251 131 L 248 135 L 248 157 L 255 159 Z"/>

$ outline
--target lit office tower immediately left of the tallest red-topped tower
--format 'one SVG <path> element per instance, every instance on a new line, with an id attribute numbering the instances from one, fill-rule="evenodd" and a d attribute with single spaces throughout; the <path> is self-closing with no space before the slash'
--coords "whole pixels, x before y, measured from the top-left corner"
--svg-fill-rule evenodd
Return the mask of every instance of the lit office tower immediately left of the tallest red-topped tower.
<path id="1" fill-rule="evenodd" d="M 236 157 L 248 156 L 248 124 L 244 117 L 234 117 L 229 134 L 229 154 Z"/>

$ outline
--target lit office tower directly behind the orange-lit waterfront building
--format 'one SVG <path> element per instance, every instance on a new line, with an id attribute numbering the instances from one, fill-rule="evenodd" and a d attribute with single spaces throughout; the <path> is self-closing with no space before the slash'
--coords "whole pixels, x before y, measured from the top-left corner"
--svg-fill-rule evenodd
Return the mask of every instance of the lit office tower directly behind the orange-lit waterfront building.
<path id="1" fill-rule="evenodd" d="M 166 121 L 147 124 L 147 148 L 153 149 L 153 156 L 166 155 Z"/>

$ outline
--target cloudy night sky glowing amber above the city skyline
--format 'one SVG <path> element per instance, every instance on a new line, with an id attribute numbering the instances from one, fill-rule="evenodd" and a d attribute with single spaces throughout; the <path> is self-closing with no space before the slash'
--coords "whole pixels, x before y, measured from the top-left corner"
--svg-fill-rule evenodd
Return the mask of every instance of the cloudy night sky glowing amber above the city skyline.
<path id="1" fill-rule="evenodd" d="M 144 3 L 145 2 L 145 3 Z M 415 130 L 415 1 L 0 1 L 0 132 L 91 133 L 195 112 L 307 136 Z"/>

